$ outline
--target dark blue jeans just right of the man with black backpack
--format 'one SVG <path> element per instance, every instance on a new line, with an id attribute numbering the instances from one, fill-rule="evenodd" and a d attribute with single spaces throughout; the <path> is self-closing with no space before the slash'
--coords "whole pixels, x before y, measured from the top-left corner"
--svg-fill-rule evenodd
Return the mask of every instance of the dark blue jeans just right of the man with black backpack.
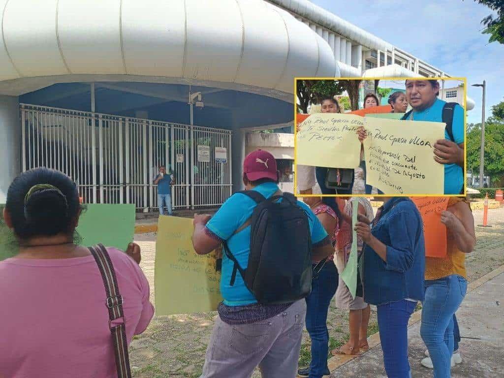
<path id="1" fill-rule="evenodd" d="M 306 297 L 306 329 L 311 338 L 309 378 L 321 378 L 327 369 L 329 354 L 327 313 L 337 288 L 338 271 L 332 261 L 326 262 L 318 275 L 317 272 L 313 272 L 311 293 Z"/>

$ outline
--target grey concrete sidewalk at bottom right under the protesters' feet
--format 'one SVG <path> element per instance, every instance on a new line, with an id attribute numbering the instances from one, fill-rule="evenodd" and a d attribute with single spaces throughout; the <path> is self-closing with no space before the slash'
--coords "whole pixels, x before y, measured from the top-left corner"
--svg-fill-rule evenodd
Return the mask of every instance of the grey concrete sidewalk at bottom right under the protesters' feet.
<path id="1" fill-rule="evenodd" d="M 504 376 L 504 273 L 468 292 L 457 311 L 462 341 L 462 363 L 452 369 L 453 378 L 497 378 Z M 420 322 L 409 328 L 409 361 L 414 378 L 430 378 L 423 367 L 425 345 L 420 338 Z M 334 370 L 331 377 L 386 377 L 382 347 L 376 346 L 361 357 Z"/>

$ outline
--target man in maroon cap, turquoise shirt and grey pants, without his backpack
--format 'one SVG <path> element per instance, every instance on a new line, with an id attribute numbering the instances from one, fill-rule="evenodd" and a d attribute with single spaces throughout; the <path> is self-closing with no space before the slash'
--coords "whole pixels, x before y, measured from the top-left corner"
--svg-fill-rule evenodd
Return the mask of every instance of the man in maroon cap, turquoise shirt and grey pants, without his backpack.
<path id="1" fill-rule="evenodd" d="M 247 191 L 259 192 L 265 199 L 281 195 L 277 163 L 272 154 L 257 150 L 243 161 L 243 184 Z M 199 255 L 208 254 L 222 242 L 239 265 L 247 268 L 250 254 L 248 221 L 258 206 L 243 193 L 232 195 L 214 216 L 195 215 L 193 245 Z M 309 207 L 305 210 L 311 238 L 311 259 L 324 259 L 334 253 L 331 241 Z M 265 377 L 294 378 L 301 347 L 306 303 L 260 304 L 248 290 L 234 263 L 226 254 L 222 260 L 219 304 L 212 338 L 208 345 L 201 378 L 249 378 L 259 366 Z M 278 264 L 277 269 L 282 269 Z"/>

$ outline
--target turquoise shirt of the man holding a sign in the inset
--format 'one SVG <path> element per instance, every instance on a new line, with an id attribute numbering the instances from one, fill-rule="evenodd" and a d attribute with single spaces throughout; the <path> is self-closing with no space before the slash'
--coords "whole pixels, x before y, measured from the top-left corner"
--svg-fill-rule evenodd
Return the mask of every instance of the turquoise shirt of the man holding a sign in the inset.
<path id="1" fill-rule="evenodd" d="M 408 117 L 411 120 L 413 115 L 414 121 L 430 121 L 430 122 L 443 122 L 442 113 L 446 101 L 434 101 L 431 107 L 422 110 L 414 111 Z M 453 111 L 452 132 L 455 143 L 464 143 L 464 108 L 460 105 L 455 105 Z M 448 133 L 445 130 L 445 139 L 450 140 Z M 460 194 L 464 186 L 464 169 L 457 164 L 445 164 L 445 194 Z"/>

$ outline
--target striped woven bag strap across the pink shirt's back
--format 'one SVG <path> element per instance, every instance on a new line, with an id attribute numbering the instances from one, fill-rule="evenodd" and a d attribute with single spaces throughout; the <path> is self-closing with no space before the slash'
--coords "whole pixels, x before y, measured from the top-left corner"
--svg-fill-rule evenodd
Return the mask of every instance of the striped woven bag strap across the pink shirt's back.
<path id="1" fill-rule="evenodd" d="M 107 249 L 102 244 L 89 247 L 88 249 L 98 265 L 105 286 L 105 294 L 107 296 L 105 305 L 108 308 L 108 326 L 114 343 L 117 378 L 131 378 L 124 311 L 122 309 L 123 298 L 119 293 L 114 267 Z"/>

